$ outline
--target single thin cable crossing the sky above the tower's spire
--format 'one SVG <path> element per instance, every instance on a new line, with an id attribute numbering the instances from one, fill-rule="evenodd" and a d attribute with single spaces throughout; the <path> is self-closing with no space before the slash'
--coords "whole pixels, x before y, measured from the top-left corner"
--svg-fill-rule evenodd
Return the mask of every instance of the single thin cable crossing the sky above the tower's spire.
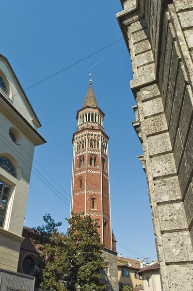
<path id="1" fill-rule="evenodd" d="M 107 48 L 113 46 L 114 44 L 118 43 L 118 42 L 119 42 L 120 40 L 122 40 L 122 39 L 123 39 L 123 38 L 120 38 L 120 39 L 116 40 L 115 42 L 111 43 L 110 45 L 108 45 L 108 46 L 106 46 L 106 47 L 104 47 L 104 48 L 102 48 L 102 49 L 99 49 L 99 50 L 93 52 L 92 54 L 88 55 L 87 57 L 85 57 L 85 58 L 83 58 L 83 59 L 81 59 L 81 60 L 79 60 L 79 61 L 73 63 L 72 65 L 68 65 L 68 66 L 65 67 L 64 69 L 62 69 L 62 70 L 60 70 L 60 71 L 58 71 L 58 72 L 56 72 L 56 73 L 54 73 L 54 74 L 48 76 L 47 78 L 45 78 L 45 79 L 43 79 L 43 80 L 41 80 L 41 81 L 39 81 L 39 82 L 33 84 L 32 86 L 26 88 L 26 89 L 23 90 L 23 91 L 27 91 L 27 90 L 31 89 L 32 87 L 34 87 L 34 86 L 36 86 L 36 85 L 38 85 L 38 84 L 40 84 L 40 83 L 42 83 L 42 82 L 44 82 L 44 81 L 46 81 L 46 80 L 52 78 L 52 77 L 54 77 L 54 76 L 60 74 L 61 72 L 65 71 L 65 70 L 67 70 L 67 69 L 69 69 L 69 68 L 71 68 L 72 66 L 77 65 L 77 64 L 79 64 L 80 62 L 82 62 L 82 61 L 84 61 L 84 60 L 86 60 L 86 59 L 92 57 L 92 56 L 95 55 L 96 53 L 98 53 L 98 52 L 100 52 L 100 51 L 102 51 L 102 50 L 104 50 L 104 49 L 107 49 Z M 16 95 L 20 94 L 20 93 L 23 93 L 23 92 L 22 92 L 22 91 L 18 92 L 17 94 L 13 95 L 12 98 L 15 97 Z M 4 102 L 4 100 L 3 100 L 2 102 L 0 102 L 0 104 L 3 103 L 3 102 Z"/>

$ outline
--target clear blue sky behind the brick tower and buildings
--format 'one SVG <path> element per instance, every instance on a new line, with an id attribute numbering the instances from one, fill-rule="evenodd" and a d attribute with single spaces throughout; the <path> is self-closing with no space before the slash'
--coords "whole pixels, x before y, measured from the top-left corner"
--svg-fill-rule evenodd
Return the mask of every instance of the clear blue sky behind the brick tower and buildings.
<path id="1" fill-rule="evenodd" d="M 121 10 L 119 0 L 2 0 L 0 53 L 9 59 L 26 89 L 122 38 L 115 17 Z M 114 234 L 143 254 L 141 259 L 153 257 L 155 236 L 146 177 L 136 158 L 142 154 L 142 146 L 131 124 L 135 120 L 132 106 L 136 102 L 129 88 L 133 77 L 124 40 L 26 91 L 42 123 L 39 132 L 48 141 L 35 149 L 34 160 L 70 194 L 71 140 L 77 129 L 76 113 L 88 89 L 89 73 L 92 73 L 97 102 L 106 114 L 104 127 L 110 136 Z M 46 177 L 36 163 L 33 166 Z M 70 200 L 59 186 L 46 178 Z M 62 221 L 61 231 L 66 231 L 69 207 L 32 173 L 25 225 L 42 224 L 45 213 Z M 122 256 L 138 257 L 125 248 L 117 244 Z"/>

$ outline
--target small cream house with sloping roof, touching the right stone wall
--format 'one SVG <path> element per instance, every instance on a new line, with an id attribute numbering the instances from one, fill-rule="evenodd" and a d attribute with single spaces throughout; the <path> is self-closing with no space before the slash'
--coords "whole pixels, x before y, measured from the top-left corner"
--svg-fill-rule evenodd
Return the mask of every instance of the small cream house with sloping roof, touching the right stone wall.
<path id="1" fill-rule="evenodd" d="M 144 291 L 161 291 L 160 264 L 158 262 L 146 266 L 138 274 L 143 276 Z"/>

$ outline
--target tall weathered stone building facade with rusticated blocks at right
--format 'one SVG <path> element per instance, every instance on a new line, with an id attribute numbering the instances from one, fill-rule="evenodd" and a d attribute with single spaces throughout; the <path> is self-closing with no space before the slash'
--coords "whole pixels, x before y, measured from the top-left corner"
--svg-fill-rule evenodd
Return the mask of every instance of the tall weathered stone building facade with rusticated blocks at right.
<path id="1" fill-rule="evenodd" d="M 121 4 L 162 290 L 193 290 L 193 1 Z"/>

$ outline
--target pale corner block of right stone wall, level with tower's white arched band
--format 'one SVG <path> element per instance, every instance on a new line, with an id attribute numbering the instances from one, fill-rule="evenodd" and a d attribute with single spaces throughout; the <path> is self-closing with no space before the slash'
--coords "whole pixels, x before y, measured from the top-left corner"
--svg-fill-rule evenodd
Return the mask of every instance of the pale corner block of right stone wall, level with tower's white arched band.
<path id="1" fill-rule="evenodd" d="M 172 150 L 169 133 L 160 133 L 147 138 L 149 155 L 157 155 Z"/>

